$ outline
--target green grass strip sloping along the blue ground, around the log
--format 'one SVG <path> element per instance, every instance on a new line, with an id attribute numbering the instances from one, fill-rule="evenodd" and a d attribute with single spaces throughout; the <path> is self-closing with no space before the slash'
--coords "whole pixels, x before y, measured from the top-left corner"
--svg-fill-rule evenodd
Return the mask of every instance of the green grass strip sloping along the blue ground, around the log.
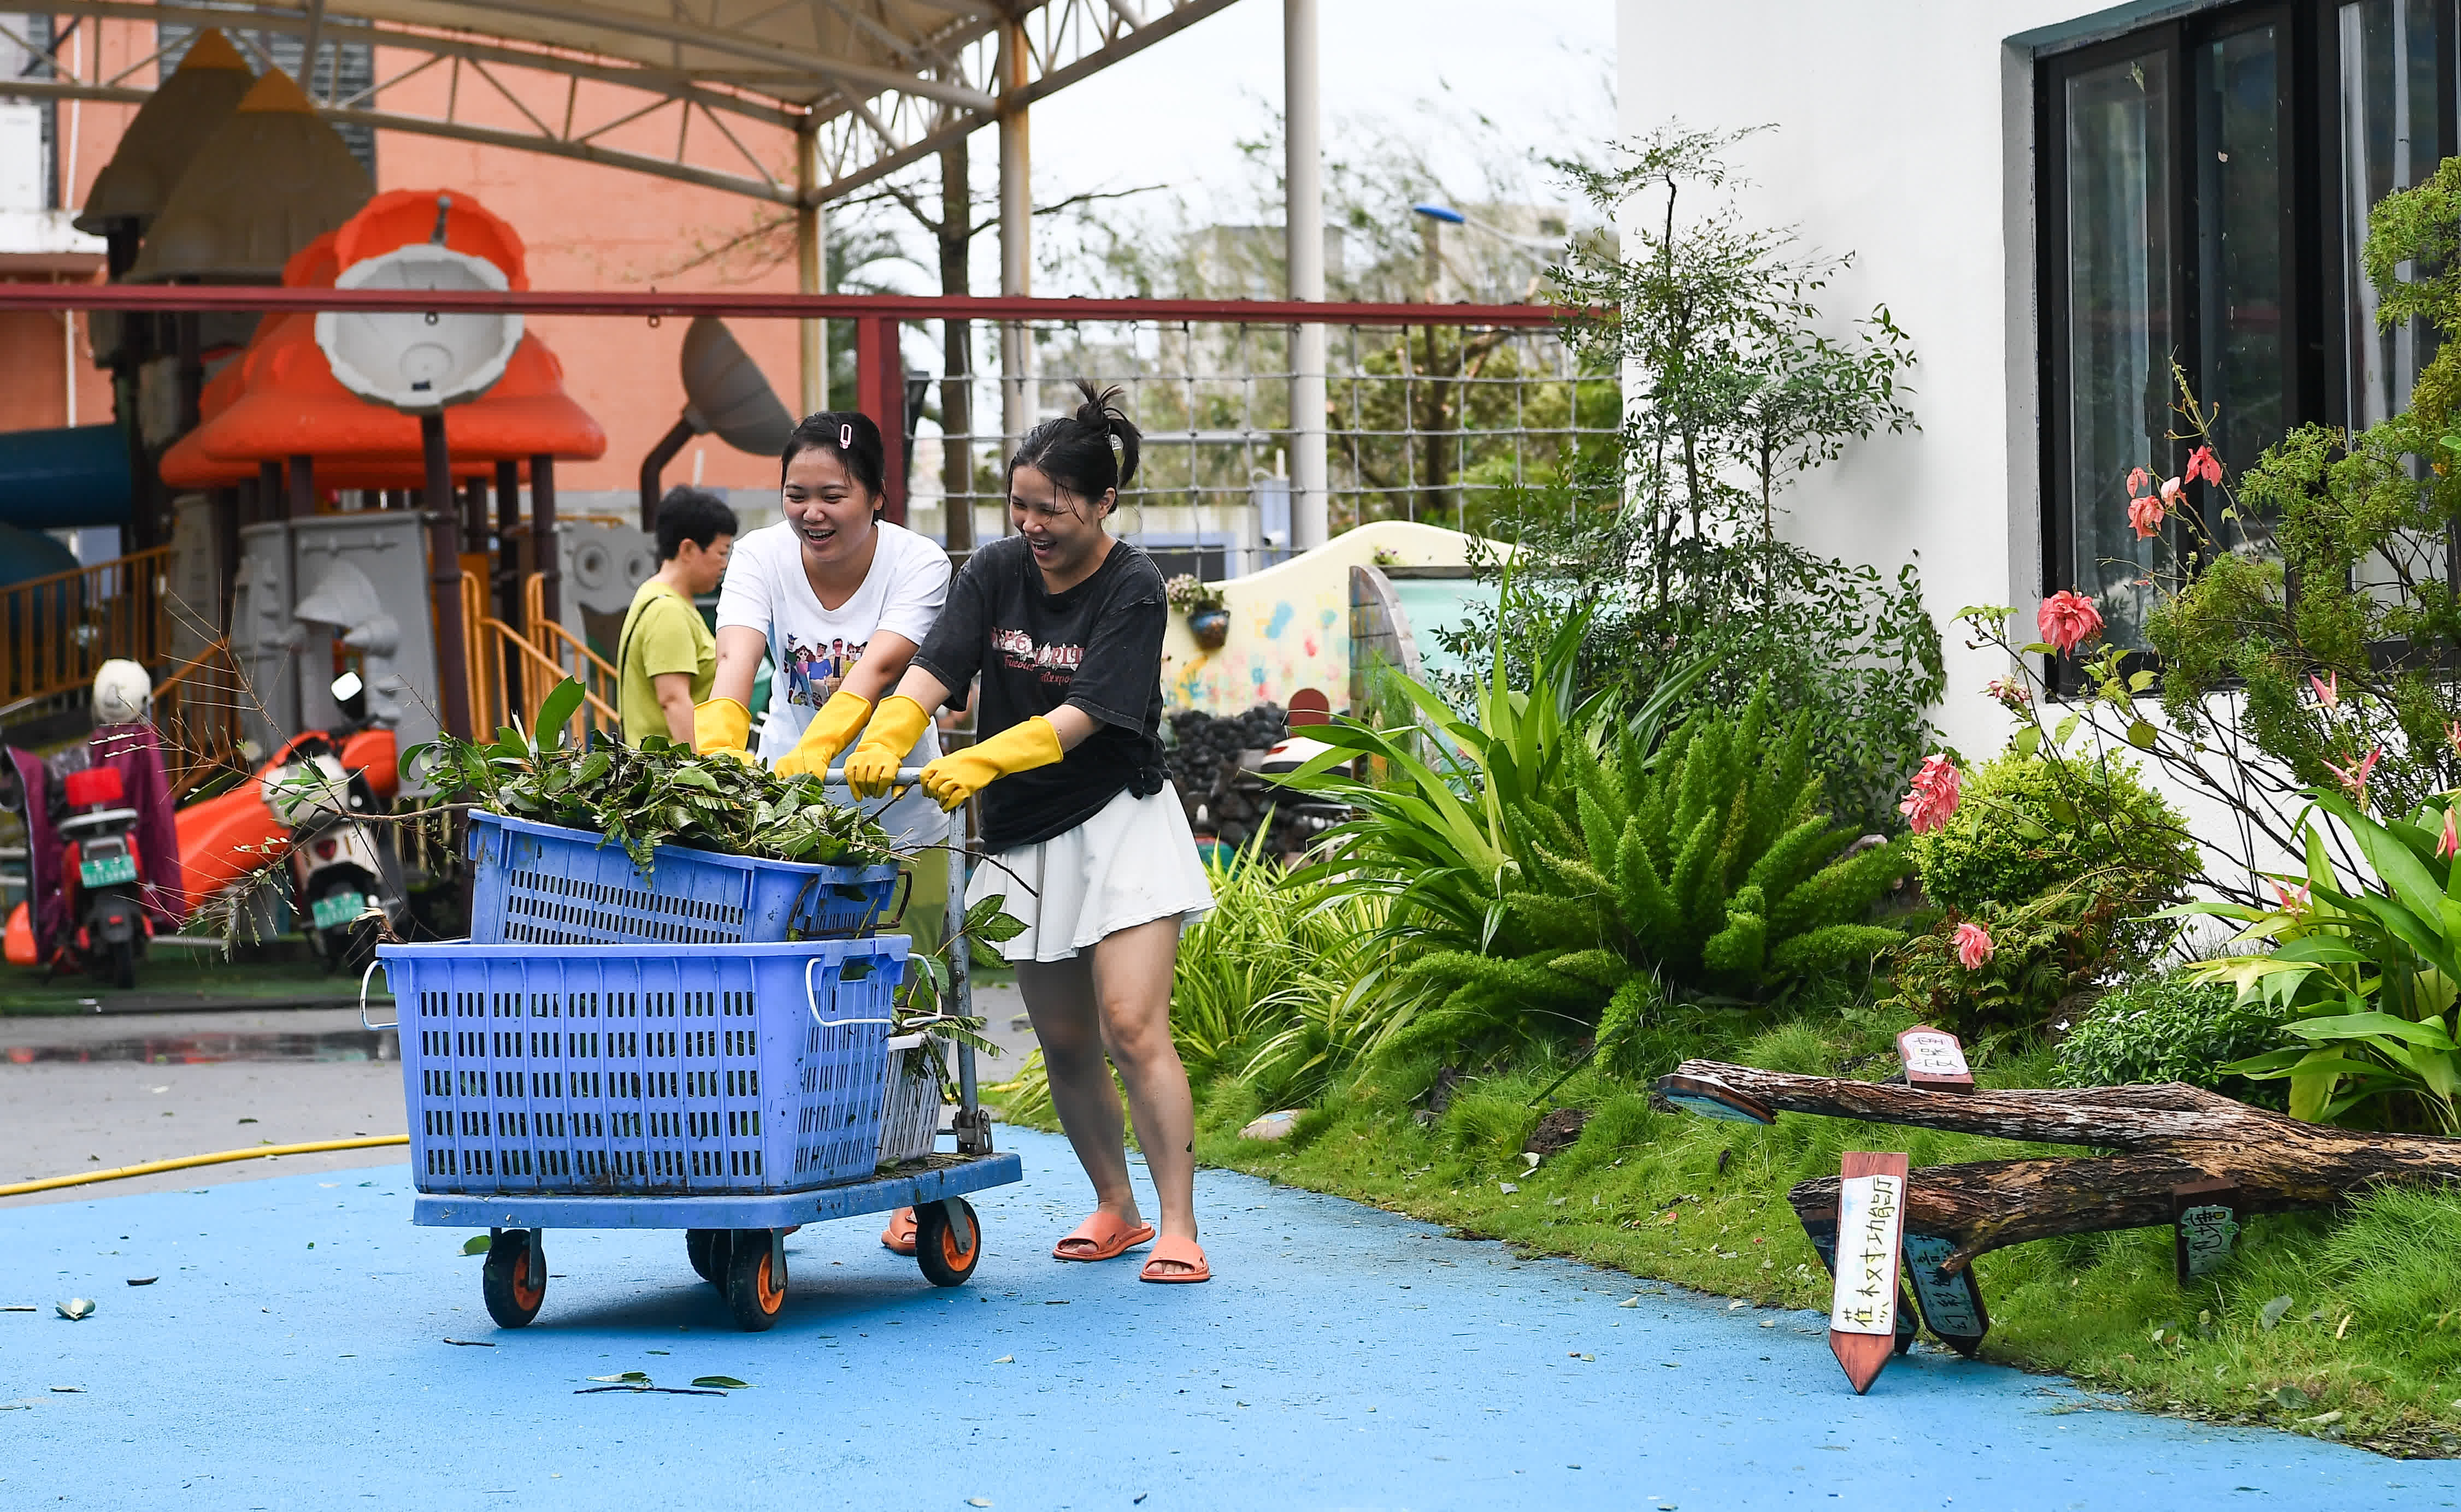
<path id="1" fill-rule="evenodd" d="M 1838 1050 L 1831 1028 L 1782 1023 L 1720 1045 L 1688 1025 L 1686 1038 L 1698 1055 L 1826 1072 Z M 2001 1057 L 1979 1079 L 2038 1087 L 2048 1069 L 2048 1052 L 2035 1052 Z M 1553 1104 L 1590 1109 L 1587 1128 L 1523 1170 L 1521 1143 L 1541 1114 L 1533 1099 L 1560 1072 L 1496 1072 L 1422 1121 L 1413 1099 L 1435 1065 L 1378 1062 L 1282 1143 L 1238 1138 L 1265 1104 L 1238 1082 L 1216 1082 L 1201 1094 L 1196 1151 L 1208 1165 L 1769 1308 L 1829 1305 L 1829 1278 L 1787 1187 L 1836 1175 L 1848 1148 L 1905 1151 L 1917 1168 L 2084 1153 L 1799 1114 L 1772 1128 L 1720 1124 L 1654 1111 L 1646 1084 L 1582 1069 Z M 1976 1276 L 1991 1310 L 1986 1360 L 2065 1372 L 2148 1411 L 2397 1455 L 2461 1453 L 2456 1195 L 2380 1192 L 2335 1217 L 2257 1217 L 2237 1259 L 2188 1288 L 2173 1281 L 2168 1229 L 2020 1244 L 1981 1256 Z M 2267 1328 L 2264 1308 L 2279 1296 L 2291 1303 Z"/>

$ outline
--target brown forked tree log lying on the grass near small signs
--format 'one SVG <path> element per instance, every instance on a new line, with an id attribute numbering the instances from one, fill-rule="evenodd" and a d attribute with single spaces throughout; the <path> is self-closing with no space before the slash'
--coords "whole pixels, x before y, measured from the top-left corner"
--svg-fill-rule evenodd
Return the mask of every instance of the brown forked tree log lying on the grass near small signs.
<path id="1" fill-rule="evenodd" d="M 1917 1168 L 1907 1183 L 1905 1229 L 1956 1246 L 1942 1264 L 1947 1274 L 2028 1239 L 2168 1224 L 2173 1192 L 2195 1183 L 2232 1183 L 2240 1212 L 2333 1207 L 2375 1185 L 2461 1183 L 2461 1138 L 2306 1124 L 2180 1082 L 1942 1094 L 1715 1060 L 1686 1060 L 1669 1082 L 1735 1092 L 1745 1109 L 2121 1151 Z M 1819 1178 L 1799 1183 L 1787 1200 L 1806 1219 L 1833 1219 L 1836 1192 L 1836 1178 Z"/>

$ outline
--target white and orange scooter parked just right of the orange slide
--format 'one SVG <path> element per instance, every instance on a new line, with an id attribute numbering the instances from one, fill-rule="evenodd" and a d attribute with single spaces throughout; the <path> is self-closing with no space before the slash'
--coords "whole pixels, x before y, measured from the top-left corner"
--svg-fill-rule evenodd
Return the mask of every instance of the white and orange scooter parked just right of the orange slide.
<path id="1" fill-rule="evenodd" d="M 349 671 L 332 683 L 345 708 L 359 691 Z M 372 772 L 394 774 L 394 733 L 362 723 L 300 735 L 261 782 L 266 806 L 290 831 L 293 907 L 327 971 L 367 966 L 411 917 L 394 841 L 364 819 L 379 806 Z"/>

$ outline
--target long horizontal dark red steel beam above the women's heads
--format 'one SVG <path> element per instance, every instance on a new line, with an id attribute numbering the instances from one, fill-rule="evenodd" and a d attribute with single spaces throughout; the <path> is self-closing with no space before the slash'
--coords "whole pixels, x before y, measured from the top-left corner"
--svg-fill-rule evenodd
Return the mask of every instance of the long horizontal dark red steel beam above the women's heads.
<path id="1" fill-rule="evenodd" d="M 0 283 L 7 310 L 374 310 L 522 315 L 733 315 L 743 320 L 1194 320 L 1221 325 L 1546 327 L 1560 305 L 1336 305 L 1307 300 L 1011 300 L 997 295 L 780 295 L 662 290 L 391 290 L 209 283 Z"/>

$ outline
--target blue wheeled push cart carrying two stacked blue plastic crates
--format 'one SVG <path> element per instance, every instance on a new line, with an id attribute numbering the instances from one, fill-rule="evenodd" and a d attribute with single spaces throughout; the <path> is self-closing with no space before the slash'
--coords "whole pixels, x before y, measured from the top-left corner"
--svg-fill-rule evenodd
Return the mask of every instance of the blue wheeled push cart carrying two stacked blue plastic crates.
<path id="1" fill-rule="evenodd" d="M 829 910 L 844 924 L 869 878 L 820 888 L 837 897 L 817 902 L 807 878 L 763 927 L 775 873 L 844 873 L 662 848 L 652 892 L 598 836 L 495 821 L 475 841 L 495 846 L 480 856 L 495 875 L 477 888 L 490 910 L 477 934 L 517 939 L 381 947 L 379 966 L 399 1003 L 411 1222 L 487 1227 L 482 1291 L 502 1328 L 546 1298 L 546 1229 L 682 1229 L 692 1269 L 746 1330 L 778 1320 L 785 1237 L 812 1222 L 913 1207 L 923 1276 L 975 1274 L 982 1224 L 965 1197 L 1021 1168 L 992 1148 L 970 1045 L 957 1042 L 957 1151 L 876 1168 L 908 939 L 743 939 Z M 965 848 L 950 858 L 950 917 L 962 917 Z M 874 910 L 856 905 L 854 927 Z M 967 954 L 950 951 L 960 1015 Z"/>

